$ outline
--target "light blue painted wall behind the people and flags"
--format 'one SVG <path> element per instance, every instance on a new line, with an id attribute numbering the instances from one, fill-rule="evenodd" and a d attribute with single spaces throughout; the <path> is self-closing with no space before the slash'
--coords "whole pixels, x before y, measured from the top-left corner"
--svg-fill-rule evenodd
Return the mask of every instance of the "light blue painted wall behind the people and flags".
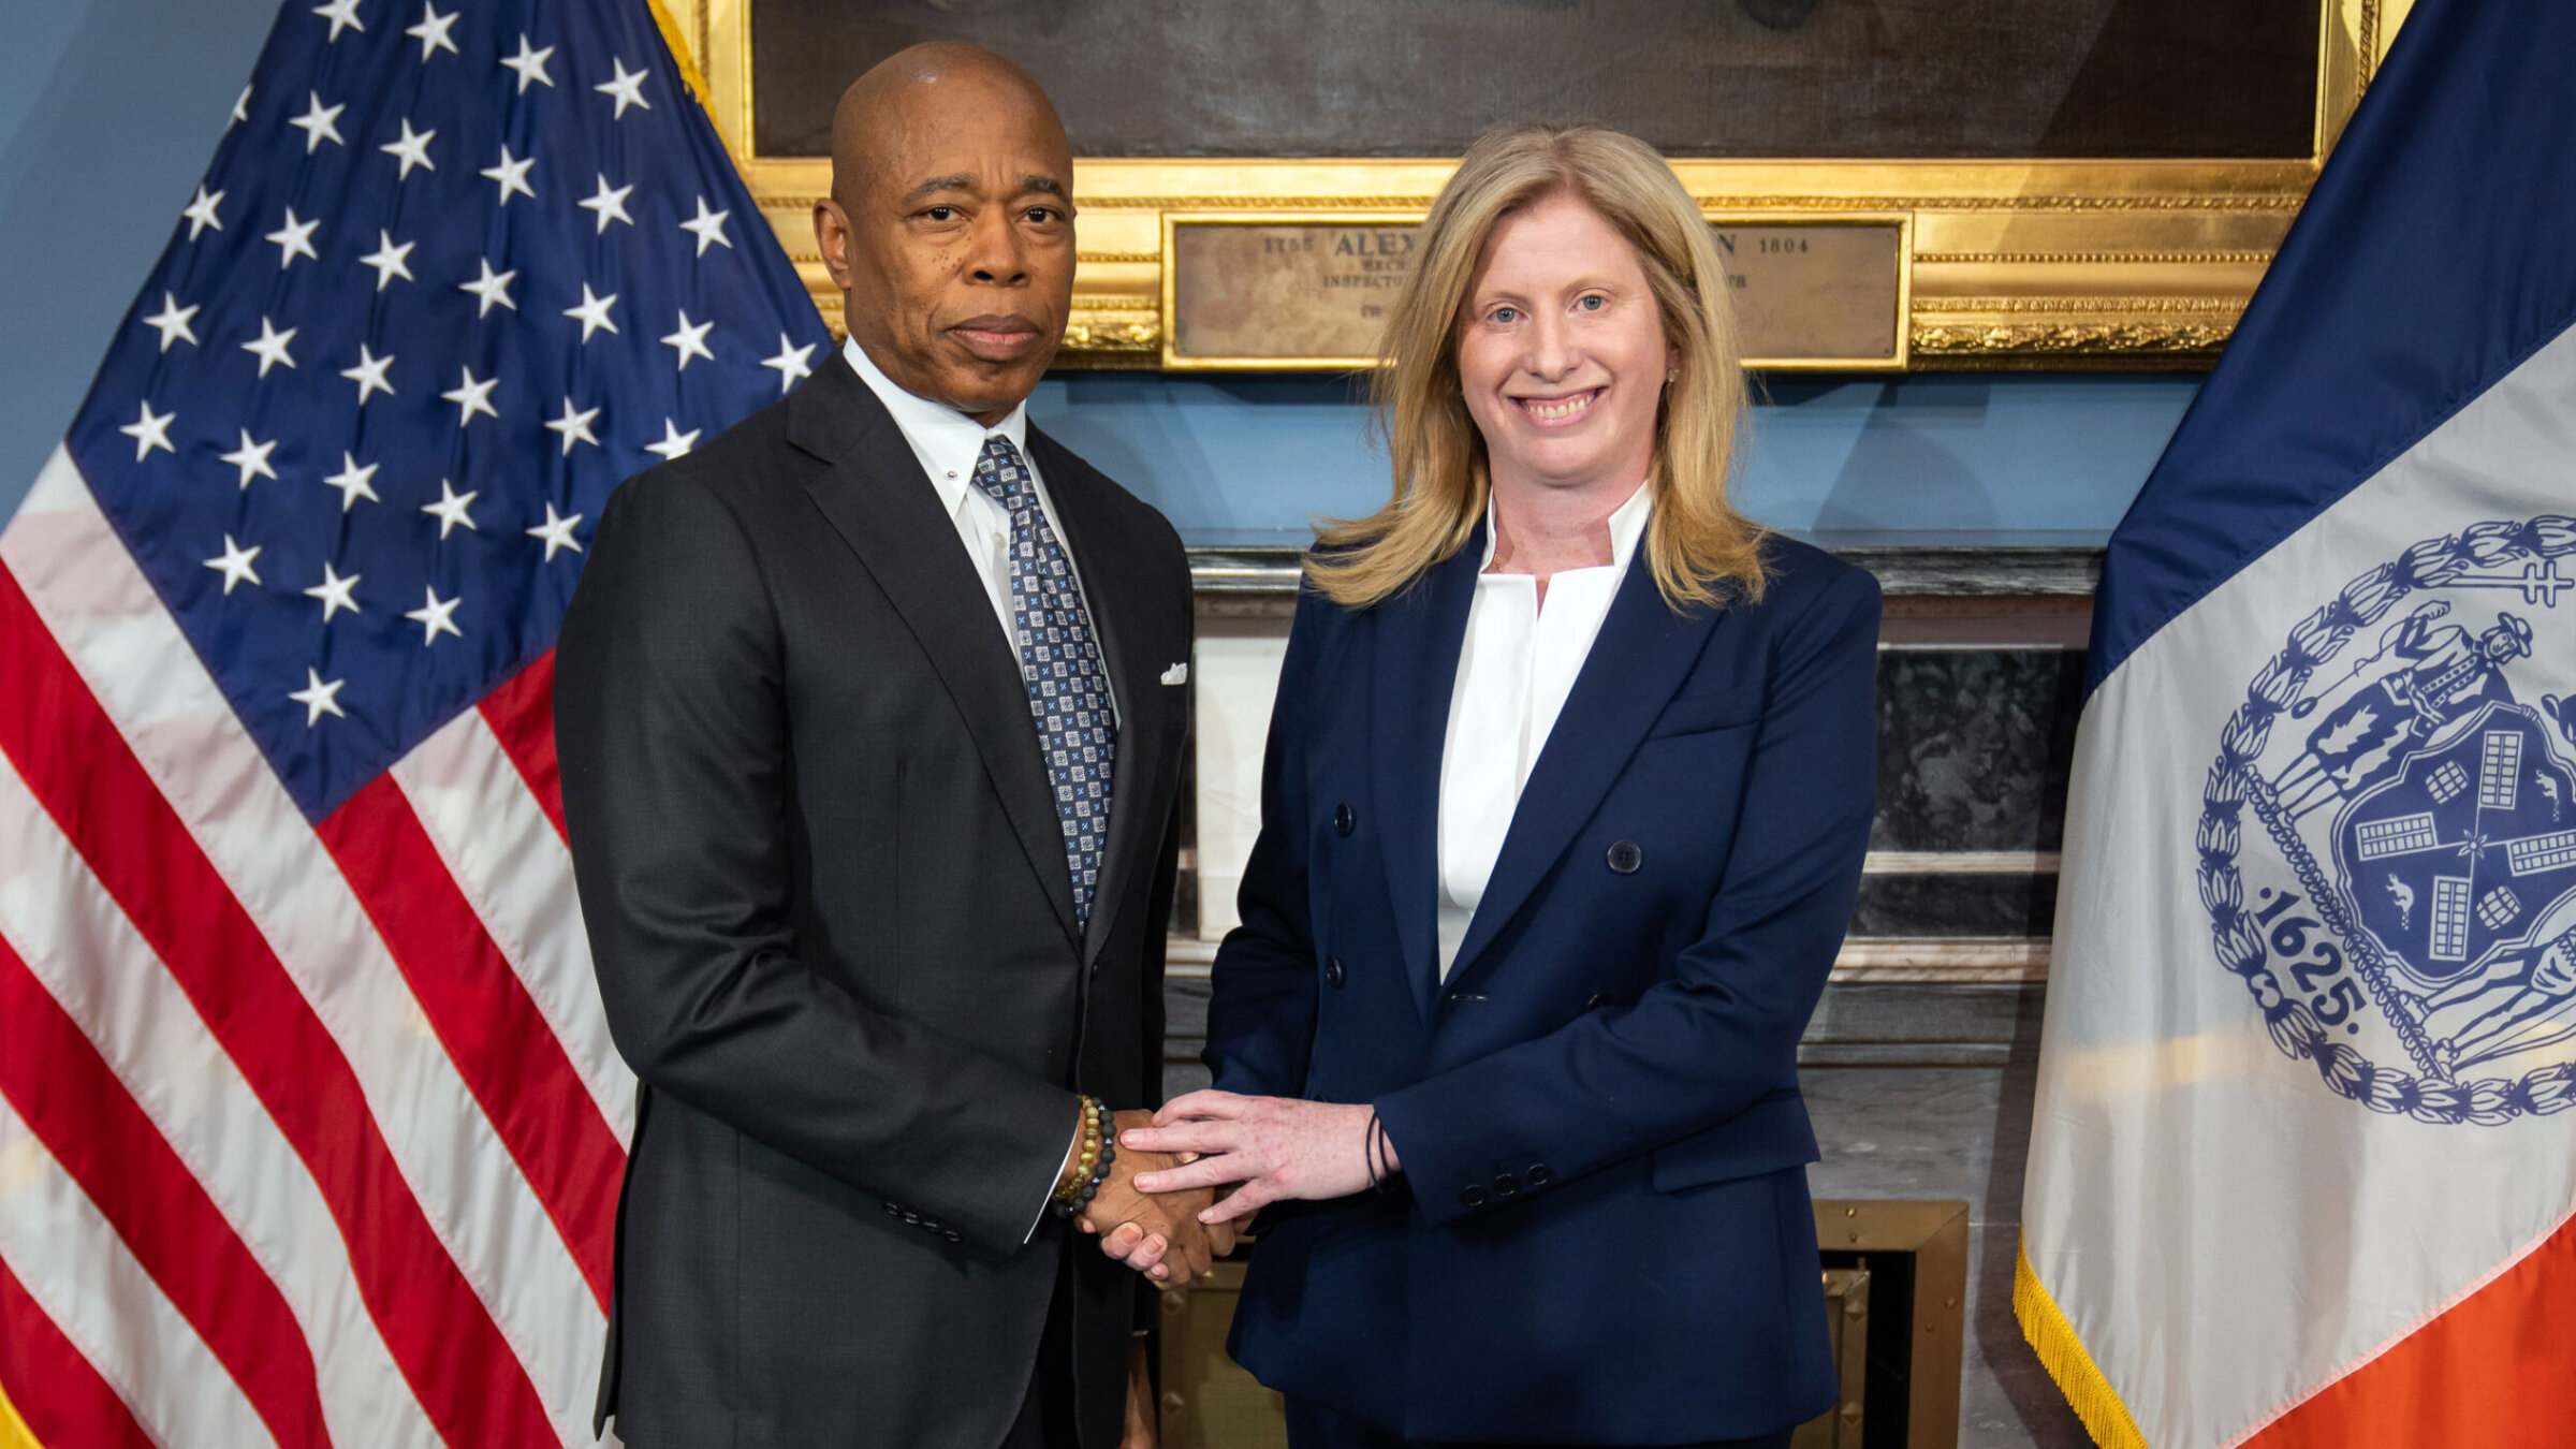
<path id="1" fill-rule="evenodd" d="M 0 46 L 0 516 L 170 240 L 276 0 L 41 0 Z M 1806 534 L 2099 536 L 2197 376 L 1772 382 L 1744 508 Z M 1038 423 L 1193 541 L 1298 539 L 1386 495 L 1368 410 L 1303 376 L 1064 374 Z"/>

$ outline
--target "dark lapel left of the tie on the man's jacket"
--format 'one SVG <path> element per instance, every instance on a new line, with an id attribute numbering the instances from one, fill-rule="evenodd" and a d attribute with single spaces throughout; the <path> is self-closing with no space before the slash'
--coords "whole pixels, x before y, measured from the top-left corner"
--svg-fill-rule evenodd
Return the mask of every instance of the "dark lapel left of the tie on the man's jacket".
<path id="1" fill-rule="evenodd" d="M 832 464 L 806 492 L 930 655 L 1002 797 L 1028 864 L 1074 938 L 1074 887 L 1054 789 L 1038 758 L 1020 660 L 912 446 L 837 353 L 788 402 L 788 441 Z"/>

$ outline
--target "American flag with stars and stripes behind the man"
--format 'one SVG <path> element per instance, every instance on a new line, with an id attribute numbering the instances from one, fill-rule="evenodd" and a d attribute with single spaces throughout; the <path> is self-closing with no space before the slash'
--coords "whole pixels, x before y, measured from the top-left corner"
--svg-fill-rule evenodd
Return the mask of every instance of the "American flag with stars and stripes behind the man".
<path id="1" fill-rule="evenodd" d="M 0 534 L 0 1444 L 587 1444 L 608 490 L 829 345 L 649 0 L 294 0 Z"/>

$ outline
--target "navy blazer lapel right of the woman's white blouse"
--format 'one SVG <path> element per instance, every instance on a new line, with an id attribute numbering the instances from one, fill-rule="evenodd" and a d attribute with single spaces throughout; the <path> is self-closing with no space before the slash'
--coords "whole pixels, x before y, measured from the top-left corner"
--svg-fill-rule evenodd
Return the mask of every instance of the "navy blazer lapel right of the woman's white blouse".
<path id="1" fill-rule="evenodd" d="M 1628 562 L 1610 614 L 1602 619 L 1592 652 L 1584 657 L 1564 712 L 1548 730 L 1548 745 L 1520 792 L 1512 828 L 1494 859 L 1494 877 L 1476 902 L 1466 941 L 1450 964 L 1450 987 L 1479 969 L 1486 946 L 1520 913 L 1538 882 L 1556 866 L 1574 833 L 1592 820 L 1602 797 L 1628 768 L 1628 755 L 1664 714 L 1664 704 L 1690 678 L 1708 645 L 1708 632 L 1723 619 L 1718 608 L 1674 614 L 1654 588 L 1646 549 Z"/>

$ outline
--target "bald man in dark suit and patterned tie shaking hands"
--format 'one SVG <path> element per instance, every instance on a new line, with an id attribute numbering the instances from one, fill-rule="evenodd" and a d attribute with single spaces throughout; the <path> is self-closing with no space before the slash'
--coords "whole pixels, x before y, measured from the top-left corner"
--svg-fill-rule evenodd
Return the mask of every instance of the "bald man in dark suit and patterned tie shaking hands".
<path id="1" fill-rule="evenodd" d="M 600 1382 L 634 1449 L 1151 1436 L 1139 1279 L 1069 1217 L 1211 1250 L 1206 1194 L 1128 1186 L 1170 1158 L 1082 1152 L 1090 1104 L 1159 1101 L 1190 578 L 1025 423 L 1069 191 L 999 57 L 860 77 L 814 209 L 850 345 L 626 482 L 564 619 L 564 815 L 641 1078 Z"/>

